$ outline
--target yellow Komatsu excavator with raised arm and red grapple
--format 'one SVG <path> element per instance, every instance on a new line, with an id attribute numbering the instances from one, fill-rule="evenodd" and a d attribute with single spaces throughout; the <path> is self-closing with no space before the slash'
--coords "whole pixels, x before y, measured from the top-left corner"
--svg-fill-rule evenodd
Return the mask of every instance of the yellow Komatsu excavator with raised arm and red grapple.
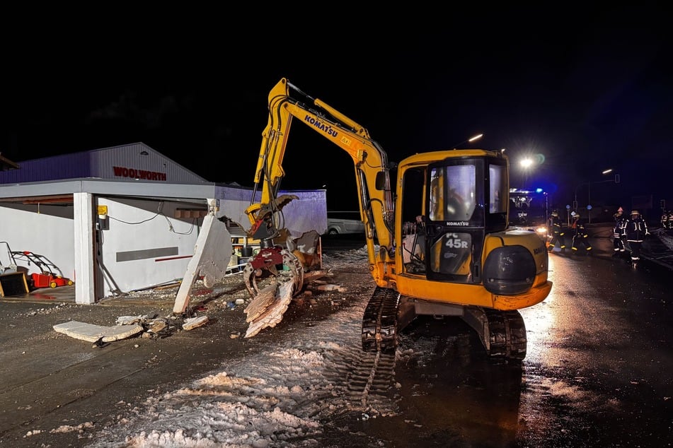
<path id="1" fill-rule="evenodd" d="M 283 157 L 292 119 L 350 155 L 376 288 L 362 317 L 362 349 L 389 351 L 421 314 L 461 317 L 491 358 L 522 360 L 526 328 L 518 310 L 551 291 L 548 253 L 534 232 L 509 228 L 509 161 L 500 151 L 417 153 L 397 165 L 367 129 L 282 78 L 269 93 L 255 187 L 246 214 L 260 252 L 243 269 L 246 288 L 290 271 L 294 294 L 304 269 L 281 235 Z M 391 182 L 391 172 L 394 173 Z"/>

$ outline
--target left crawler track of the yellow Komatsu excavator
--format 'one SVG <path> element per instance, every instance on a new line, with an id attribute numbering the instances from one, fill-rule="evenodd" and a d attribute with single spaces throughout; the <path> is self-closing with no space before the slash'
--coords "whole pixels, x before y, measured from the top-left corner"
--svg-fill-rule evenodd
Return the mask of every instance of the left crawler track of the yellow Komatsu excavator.
<path id="1" fill-rule="evenodd" d="M 400 293 L 377 286 L 362 317 L 362 350 L 389 352 L 397 347 Z"/>

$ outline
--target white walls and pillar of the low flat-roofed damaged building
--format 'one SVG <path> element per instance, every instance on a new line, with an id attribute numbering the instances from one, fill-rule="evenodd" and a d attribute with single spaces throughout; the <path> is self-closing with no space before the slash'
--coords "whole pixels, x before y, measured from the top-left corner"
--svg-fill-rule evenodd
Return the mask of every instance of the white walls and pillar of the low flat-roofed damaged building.
<path id="1" fill-rule="evenodd" d="M 122 188 L 126 186 L 134 188 Z M 108 193 L 113 190 L 114 193 Z M 44 255 L 65 277 L 75 281 L 78 302 L 95 303 L 117 291 L 125 293 L 183 278 L 194 254 L 202 218 L 175 218 L 176 208 L 205 210 L 207 199 L 212 196 L 219 204 L 218 217 L 227 216 L 237 220 L 243 228 L 249 228 L 245 209 L 251 202 L 251 190 L 228 186 L 203 190 L 194 185 L 169 184 L 163 187 L 97 179 L 4 185 L 0 187 L 0 197 L 12 198 L 21 194 L 64 196 L 70 193 L 74 195 L 74 204 L 2 202 L 0 241 L 8 242 L 13 251 L 28 250 Z M 171 196 L 178 192 L 198 199 Z M 122 197 L 132 193 L 148 197 Z M 285 225 L 293 237 L 300 237 L 308 230 L 319 233 L 326 230 L 324 190 L 284 193 L 299 196 L 283 209 Z M 162 197 L 167 199 L 161 200 Z M 75 205 L 81 208 L 78 212 L 81 218 L 79 227 L 84 225 L 85 228 L 75 228 Z M 100 230 L 96 234 L 93 227 L 98 205 L 108 206 L 108 230 Z M 91 216 L 94 217 L 93 223 L 89 220 Z M 90 223 L 91 228 L 88 228 Z M 79 235 L 78 241 L 75 241 L 76 235 Z M 95 252 L 99 252 L 102 265 L 93 261 L 91 254 Z M 78 260 L 79 265 L 76 264 Z M 28 273 L 40 272 L 35 266 L 25 267 Z M 78 269 L 82 271 L 81 275 L 78 275 Z"/>

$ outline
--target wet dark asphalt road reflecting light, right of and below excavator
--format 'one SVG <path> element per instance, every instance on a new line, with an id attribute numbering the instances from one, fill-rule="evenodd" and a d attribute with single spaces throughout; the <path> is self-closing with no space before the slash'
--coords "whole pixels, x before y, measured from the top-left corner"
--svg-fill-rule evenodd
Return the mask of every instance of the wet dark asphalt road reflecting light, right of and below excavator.
<path id="1" fill-rule="evenodd" d="M 593 244 L 589 257 L 550 254 L 551 295 L 521 310 L 520 366 L 486 360 L 457 318 L 417 319 L 400 350 L 431 355 L 398 362 L 401 415 L 361 429 L 386 447 L 671 446 L 672 271 Z"/>

